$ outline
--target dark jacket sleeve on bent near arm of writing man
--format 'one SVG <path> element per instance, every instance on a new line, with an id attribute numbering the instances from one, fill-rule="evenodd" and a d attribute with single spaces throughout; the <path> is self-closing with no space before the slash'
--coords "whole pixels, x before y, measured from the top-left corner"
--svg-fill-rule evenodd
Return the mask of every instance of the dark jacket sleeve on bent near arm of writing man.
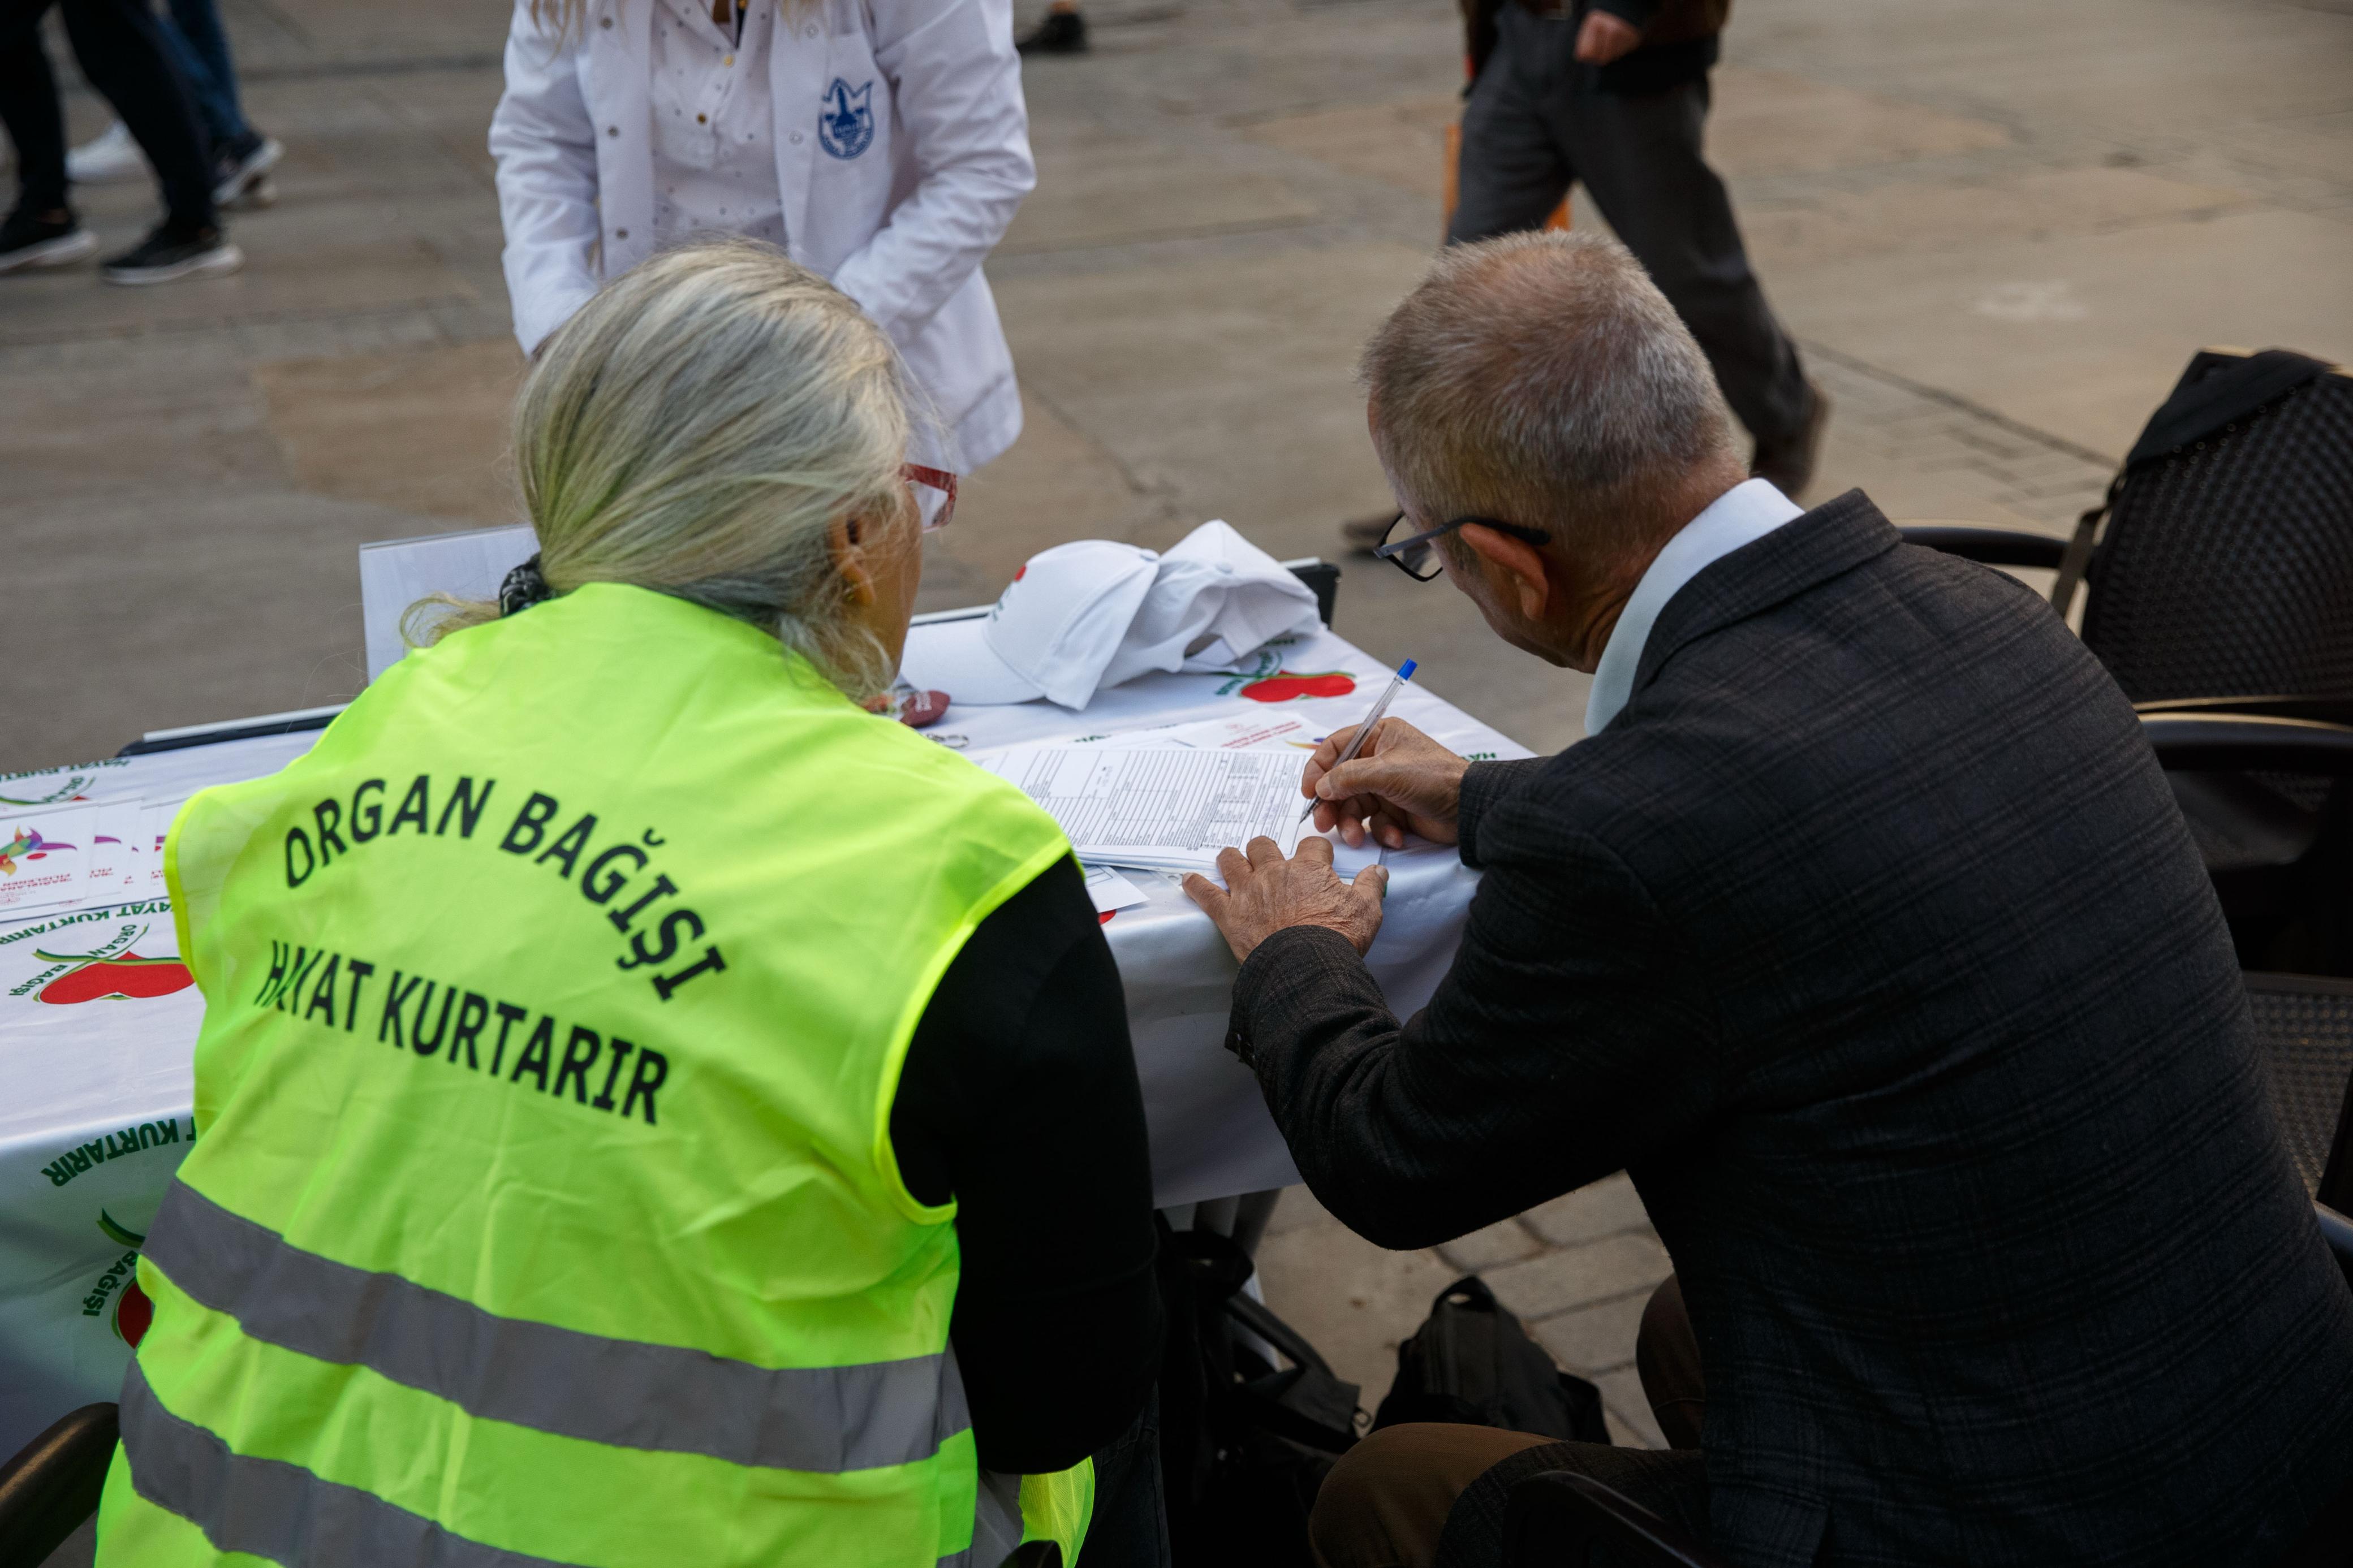
<path id="1" fill-rule="evenodd" d="M 1233 985 L 1228 1039 L 1299 1173 L 1388 1248 L 1687 1147 L 1718 1093 L 1713 992 L 1640 879 L 1548 820 L 1525 771 L 1487 783 L 1518 790 L 1482 799 L 1485 877 L 1424 1011 L 1400 1025 L 1322 926 L 1275 931 Z"/>

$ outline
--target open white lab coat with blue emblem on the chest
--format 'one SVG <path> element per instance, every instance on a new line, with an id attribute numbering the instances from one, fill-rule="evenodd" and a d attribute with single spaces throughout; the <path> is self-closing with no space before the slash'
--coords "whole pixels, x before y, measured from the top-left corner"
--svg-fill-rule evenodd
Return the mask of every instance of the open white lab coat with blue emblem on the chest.
<path id="1" fill-rule="evenodd" d="M 656 244 L 654 0 L 588 0 L 586 26 L 560 45 L 558 7 L 541 9 L 546 28 L 529 0 L 515 2 L 506 96 L 489 120 L 525 353 Z M 774 26 L 786 249 L 889 331 L 951 437 L 936 456 L 969 473 L 1021 433 L 1012 350 L 981 277 L 1038 183 L 1012 0 L 809 0 L 781 5 Z M 840 134 L 845 96 L 871 110 L 864 141 Z"/>

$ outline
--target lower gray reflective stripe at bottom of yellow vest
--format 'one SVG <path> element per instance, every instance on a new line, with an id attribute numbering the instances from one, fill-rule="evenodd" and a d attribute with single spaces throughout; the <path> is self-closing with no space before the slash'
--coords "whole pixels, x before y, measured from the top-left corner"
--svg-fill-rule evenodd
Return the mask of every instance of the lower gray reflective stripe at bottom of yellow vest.
<path id="1" fill-rule="evenodd" d="M 122 1378 L 122 1455 L 132 1488 L 193 1523 L 219 1552 L 289 1568 L 569 1568 L 452 1535 L 301 1465 L 231 1453 L 205 1427 L 165 1410 L 136 1361 Z"/>

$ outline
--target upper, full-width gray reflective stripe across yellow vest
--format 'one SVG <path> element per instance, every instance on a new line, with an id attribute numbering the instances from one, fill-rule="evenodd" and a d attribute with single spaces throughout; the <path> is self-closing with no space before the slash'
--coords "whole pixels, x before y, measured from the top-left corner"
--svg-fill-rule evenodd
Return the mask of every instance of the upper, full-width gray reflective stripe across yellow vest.
<path id="1" fill-rule="evenodd" d="M 179 1180 L 146 1255 L 256 1340 L 365 1366 L 468 1415 L 588 1443 L 838 1474 L 927 1460 L 972 1425 L 948 1354 L 765 1368 L 494 1316 L 292 1246 Z"/>

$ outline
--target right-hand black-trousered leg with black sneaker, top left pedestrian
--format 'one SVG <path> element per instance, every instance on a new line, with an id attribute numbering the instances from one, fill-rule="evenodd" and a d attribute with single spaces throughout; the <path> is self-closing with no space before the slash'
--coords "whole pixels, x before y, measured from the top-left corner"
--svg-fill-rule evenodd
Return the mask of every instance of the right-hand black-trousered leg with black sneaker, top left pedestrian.
<path id="1" fill-rule="evenodd" d="M 24 5 L 24 0 L 16 0 Z M 108 282 L 172 282 L 233 273 L 242 252 L 221 235 L 212 158 L 188 85 L 165 54 L 162 28 L 141 0 L 61 0 L 66 38 L 89 85 L 115 106 L 162 186 L 165 219 L 104 266 Z"/>

